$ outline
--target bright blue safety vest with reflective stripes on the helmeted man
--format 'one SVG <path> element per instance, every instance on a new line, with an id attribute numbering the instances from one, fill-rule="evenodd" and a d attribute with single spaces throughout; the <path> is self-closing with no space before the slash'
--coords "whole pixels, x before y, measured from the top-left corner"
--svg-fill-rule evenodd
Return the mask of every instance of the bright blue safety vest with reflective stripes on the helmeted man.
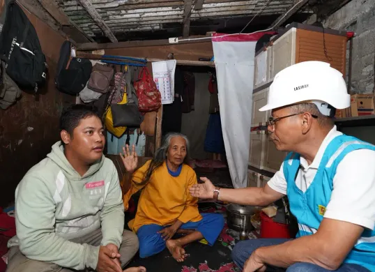
<path id="1" fill-rule="evenodd" d="M 375 146 L 348 135 L 339 135 L 332 139 L 326 151 L 324 151 L 314 180 L 306 192 L 296 186 L 296 176 L 300 169 L 300 155 L 298 153 L 289 153 L 286 156 L 283 168 L 287 182 L 286 194 L 288 195 L 291 213 L 298 220 L 299 232 L 297 237 L 314 234 L 319 229 L 326 206 L 330 202 L 332 195 L 333 177 L 336 174 L 337 165 L 347 153 L 358 149 L 375 151 Z M 355 165 L 353 165 L 354 170 Z M 369 171 L 375 170 L 369 169 Z M 360 186 L 360 183 L 358 183 L 358 186 Z M 342 201 L 344 202 L 345 199 L 342 199 Z M 375 271 L 374 230 L 365 229 L 344 262 L 359 264 L 369 269 L 369 271 Z"/>

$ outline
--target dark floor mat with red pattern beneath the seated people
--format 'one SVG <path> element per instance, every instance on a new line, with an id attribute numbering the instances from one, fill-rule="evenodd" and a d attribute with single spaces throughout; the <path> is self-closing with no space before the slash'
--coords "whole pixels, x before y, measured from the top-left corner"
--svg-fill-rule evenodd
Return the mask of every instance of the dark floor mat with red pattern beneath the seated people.
<path id="1" fill-rule="evenodd" d="M 225 207 L 216 204 L 200 204 L 201 213 L 222 213 L 225 216 Z M 148 272 L 237 272 L 240 271 L 231 259 L 231 250 L 239 239 L 238 232 L 229 229 L 225 224 L 220 237 L 211 247 L 205 241 L 194 242 L 185 247 L 188 254 L 182 263 L 176 262 L 168 250 L 158 255 L 132 260 L 129 266 L 145 266 Z M 257 234 L 251 233 L 250 239 L 257 239 Z"/>

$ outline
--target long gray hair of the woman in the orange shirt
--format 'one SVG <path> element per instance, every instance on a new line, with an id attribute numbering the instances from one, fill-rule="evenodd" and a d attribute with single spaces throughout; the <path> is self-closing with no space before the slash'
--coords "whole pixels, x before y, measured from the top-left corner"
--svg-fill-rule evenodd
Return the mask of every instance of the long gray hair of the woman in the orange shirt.
<path id="1" fill-rule="evenodd" d="M 169 149 L 169 146 L 171 145 L 171 139 L 174 138 L 174 137 L 182 137 L 183 139 L 185 139 L 186 156 L 183 159 L 183 163 L 185 163 L 187 165 L 189 164 L 190 142 L 189 142 L 188 137 L 186 137 L 185 135 L 183 135 L 181 133 L 168 133 L 164 137 L 164 139 L 162 141 L 162 145 L 155 151 L 153 159 L 151 160 L 151 163 L 148 166 L 148 169 L 144 174 L 144 179 L 141 182 L 141 184 L 146 184 L 151 179 L 151 176 L 152 176 L 153 172 L 155 172 L 156 169 L 158 169 L 160 166 L 162 166 L 165 159 L 167 158 L 168 149 Z"/>

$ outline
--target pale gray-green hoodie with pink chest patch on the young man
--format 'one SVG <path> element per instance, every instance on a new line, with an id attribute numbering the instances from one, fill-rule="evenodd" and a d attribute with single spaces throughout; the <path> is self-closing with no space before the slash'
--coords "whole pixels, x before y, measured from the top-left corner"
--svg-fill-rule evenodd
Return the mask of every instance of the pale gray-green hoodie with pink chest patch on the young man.
<path id="1" fill-rule="evenodd" d="M 8 246 L 39 261 L 82 270 L 95 269 L 99 247 L 69 239 L 102 228 L 102 245 L 122 241 L 123 200 L 116 167 L 102 156 L 80 176 L 61 142 L 26 173 L 15 191 L 17 236 Z"/>

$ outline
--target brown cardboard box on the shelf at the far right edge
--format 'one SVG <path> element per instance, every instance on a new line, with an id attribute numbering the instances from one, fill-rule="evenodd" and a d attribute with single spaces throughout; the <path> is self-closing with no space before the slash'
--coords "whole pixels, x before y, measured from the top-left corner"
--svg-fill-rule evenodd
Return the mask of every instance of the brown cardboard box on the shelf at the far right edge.
<path id="1" fill-rule="evenodd" d="M 354 94 L 351 96 L 351 116 L 375 114 L 374 94 Z"/>

